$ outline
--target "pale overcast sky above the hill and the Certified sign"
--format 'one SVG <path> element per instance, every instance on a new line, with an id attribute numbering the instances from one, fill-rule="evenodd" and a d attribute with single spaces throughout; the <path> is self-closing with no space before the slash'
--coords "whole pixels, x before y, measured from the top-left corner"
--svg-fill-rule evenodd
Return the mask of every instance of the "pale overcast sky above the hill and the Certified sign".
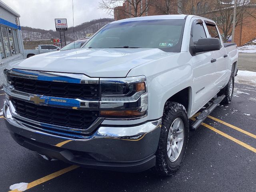
<path id="1" fill-rule="evenodd" d="M 21 26 L 54 30 L 54 19 L 67 18 L 73 26 L 72 0 L 2 0 L 20 14 Z M 74 26 L 92 19 L 111 18 L 98 9 L 100 0 L 74 0 Z"/>

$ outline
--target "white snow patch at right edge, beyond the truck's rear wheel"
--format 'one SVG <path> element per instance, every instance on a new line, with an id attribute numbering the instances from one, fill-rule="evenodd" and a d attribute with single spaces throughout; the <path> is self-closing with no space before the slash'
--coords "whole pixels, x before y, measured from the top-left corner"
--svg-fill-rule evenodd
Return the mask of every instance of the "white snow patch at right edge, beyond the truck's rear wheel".
<path id="1" fill-rule="evenodd" d="M 237 76 L 235 77 L 235 83 L 256 86 L 256 72 L 238 70 Z"/>

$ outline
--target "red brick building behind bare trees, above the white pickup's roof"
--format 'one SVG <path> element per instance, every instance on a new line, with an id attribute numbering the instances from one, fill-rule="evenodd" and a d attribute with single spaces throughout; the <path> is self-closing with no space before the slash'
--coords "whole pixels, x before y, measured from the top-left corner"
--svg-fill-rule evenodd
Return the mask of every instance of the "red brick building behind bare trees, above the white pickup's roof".
<path id="1" fill-rule="evenodd" d="M 231 40 L 233 5 L 230 0 L 126 0 L 122 6 L 114 9 L 115 20 L 162 14 L 193 14 L 210 18 L 216 22 L 225 39 Z M 242 46 L 256 38 L 256 0 L 238 0 L 238 23 L 235 28 L 234 41 Z"/>

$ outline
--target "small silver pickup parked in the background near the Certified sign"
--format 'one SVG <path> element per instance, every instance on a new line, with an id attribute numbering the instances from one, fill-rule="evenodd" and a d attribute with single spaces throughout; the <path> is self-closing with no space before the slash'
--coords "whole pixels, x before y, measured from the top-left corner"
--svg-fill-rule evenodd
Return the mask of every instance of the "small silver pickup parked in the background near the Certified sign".
<path id="1" fill-rule="evenodd" d="M 58 50 L 60 50 L 60 48 L 55 45 L 38 45 L 38 48 L 34 50 L 33 49 L 24 50 L 24 55 L 25 55 L 25 58 L 29 58 L 34 55 L 52 52 L 52 51 L 58 51 Z"/>

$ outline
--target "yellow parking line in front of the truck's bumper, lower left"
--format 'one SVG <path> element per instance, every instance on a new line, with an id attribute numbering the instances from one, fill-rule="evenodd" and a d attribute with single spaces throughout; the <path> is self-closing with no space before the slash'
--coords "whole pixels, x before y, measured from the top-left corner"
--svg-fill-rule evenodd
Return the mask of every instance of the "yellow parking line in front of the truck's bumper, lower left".
<path id="1" fill-rule="evenodd" d="M 33 181 L 33 182 L 31 182 L 31 183 L 28 184 L 26 190 L 28 190 L 28 189 L 30 189 L 30 188 L 32 188 L 32 187 L 34 187 L 34 186 L 37 186 L 37 185 L 39 185 L 39 184 L 42 184 L 42 183 L 44 183 L 44 182 L 46 182 L 46 181 L 48 181 L 48 180 L 54 179 L 54 178 L 56 178 L 56 177 L 58 177 L 58 176 L 60 176 L 60 175 L 62 175 L 62 174 L 64 174 L 64 173 L 69 172 L 69 171 L 72 171 L 72 170 L 74 170 L 74 169 L 76 169 L 76 168 L 78 168 L 78 167 L 79 167 L 79 166 L 72 165 L 72 166 L 70 166 L 70 167 L 64 168 L 64 169 L 62 169 L 62 170 L 59 170 L 59 171 L 57 171 L 57 172 L 54 172 L 54 173 L 52 173 L 52 174 L 50 174 L 50 175 L 47 175 L 47 176 L 45 176 L 45 177 L 42 177 L 42 178 L 40 178 L 40 179 L 38 179 L 38 180 L 35 180 L 35 181 Z M 18 191 L 17 189 L 15 189 L 15 190 L 11 190 L 11 191 L 9 191 L 9 192 L 19 192 L 19 191 Z"/>

